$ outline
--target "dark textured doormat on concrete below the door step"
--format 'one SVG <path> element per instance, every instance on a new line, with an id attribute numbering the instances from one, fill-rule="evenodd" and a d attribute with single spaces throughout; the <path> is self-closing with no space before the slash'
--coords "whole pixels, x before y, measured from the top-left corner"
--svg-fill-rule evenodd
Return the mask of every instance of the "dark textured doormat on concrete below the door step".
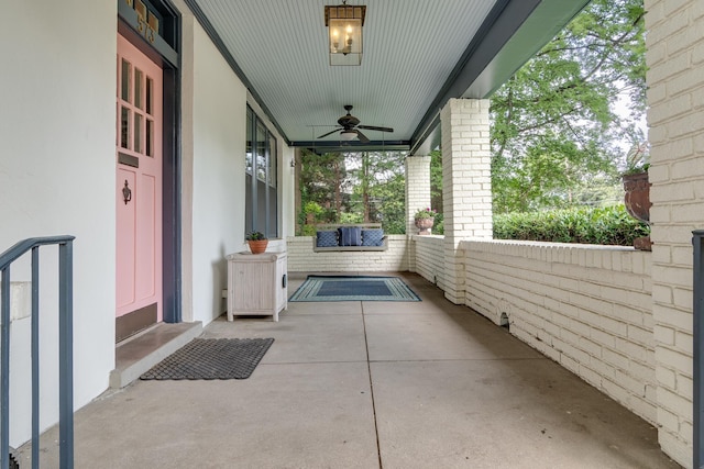
<path id="1" fill-rule="evenodd" d="M 140 379 L 246 379 L 273 343 L 273 338 L 194 338 Z"/>

